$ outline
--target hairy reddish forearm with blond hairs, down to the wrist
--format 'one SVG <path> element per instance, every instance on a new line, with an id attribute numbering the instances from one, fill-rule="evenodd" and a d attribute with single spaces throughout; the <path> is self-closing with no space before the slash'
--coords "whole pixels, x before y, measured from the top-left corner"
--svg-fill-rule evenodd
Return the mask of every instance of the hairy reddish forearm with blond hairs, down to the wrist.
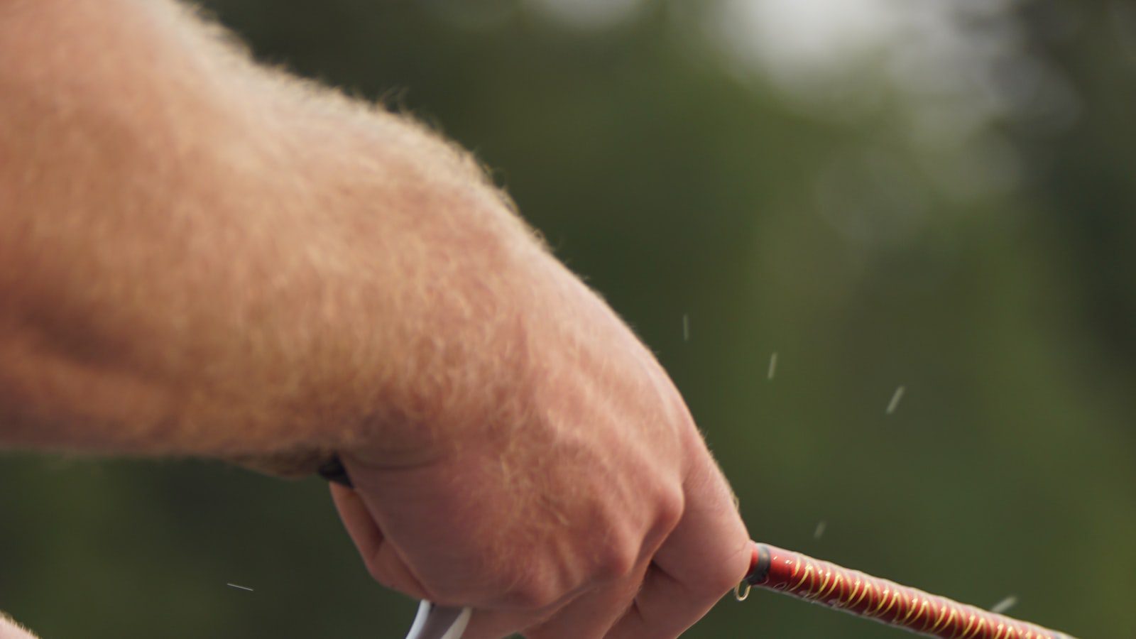
<path id="1" fill-rule="evenodd" d="M 477 300 L 545 257 L 461 153 L 166 2 L 17 2 L 0 49 L 0 442 L 396 449 L 492 409 L 454 371 L 516 362 L 452 364 L 510 351 Z"/>

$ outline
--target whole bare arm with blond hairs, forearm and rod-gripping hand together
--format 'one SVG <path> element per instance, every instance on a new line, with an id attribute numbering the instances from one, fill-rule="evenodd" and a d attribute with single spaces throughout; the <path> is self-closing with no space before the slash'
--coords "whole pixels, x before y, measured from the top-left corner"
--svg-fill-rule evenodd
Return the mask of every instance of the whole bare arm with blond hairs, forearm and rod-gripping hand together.
<path id="1" fill-rule="evenodd" d="M 366 569 L 466 637 L 695 623 L 749 536 L 654 357 L 467 153 L 231 40 L 0 9 L 0 445 L 336 453 Z"/>

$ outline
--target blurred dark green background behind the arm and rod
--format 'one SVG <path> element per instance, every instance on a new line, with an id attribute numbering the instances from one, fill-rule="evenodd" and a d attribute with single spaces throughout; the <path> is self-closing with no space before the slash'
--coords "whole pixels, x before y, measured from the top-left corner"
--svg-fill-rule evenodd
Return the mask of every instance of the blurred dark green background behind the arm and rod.
<path id="1" fill-rule="evenodd" d="M 206 6 L 475 150 L 658 352 L 754 538 L 1136 636 L 1131 2 Z M 8 454 L 0 608 L 44 639 L 348 639 L 415 604 L 320 481 Z M 686 636 L 904 634 L 757 592 Z"/>

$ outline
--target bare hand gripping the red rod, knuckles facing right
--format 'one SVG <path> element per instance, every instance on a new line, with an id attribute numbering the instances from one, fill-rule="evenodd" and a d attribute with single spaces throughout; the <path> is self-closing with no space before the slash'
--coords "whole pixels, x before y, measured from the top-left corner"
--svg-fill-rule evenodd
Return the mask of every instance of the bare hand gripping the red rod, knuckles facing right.
<path id="1" fill-rule="evenodd" d="M 528 294 L 494 300 L 508 348 L 482 355 L 508 365 L 457 364 L 508 379 L 419 407 L 431 434 L 398 454 L 343 451 L 354 490 L 333 486 L 336 507 L 377 581 L 475 608 L 466 638 L 677 637 L 744 576 L 749 536 L 652 355 L 537 262 Z"/>

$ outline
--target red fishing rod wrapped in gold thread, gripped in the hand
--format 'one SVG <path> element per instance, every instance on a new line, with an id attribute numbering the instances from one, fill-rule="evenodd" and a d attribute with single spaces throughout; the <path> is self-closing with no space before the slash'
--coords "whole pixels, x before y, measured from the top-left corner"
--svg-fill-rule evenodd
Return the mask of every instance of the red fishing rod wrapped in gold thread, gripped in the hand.
<path id="1" fill-rule="evenodd" d="M 319 474 L 351 488 L 351 479 L 337 457 L 321 466 Z M 1074 639 L 1063 632 L 801 553 L 757 541 L 751 543 L 750 571 L 734 590 L 740 601 L 757 587 L 941 639 Z M 461 639 L 470 613 L 470 608 L 437 606 L 424 600 L 407 639 Z"/>

